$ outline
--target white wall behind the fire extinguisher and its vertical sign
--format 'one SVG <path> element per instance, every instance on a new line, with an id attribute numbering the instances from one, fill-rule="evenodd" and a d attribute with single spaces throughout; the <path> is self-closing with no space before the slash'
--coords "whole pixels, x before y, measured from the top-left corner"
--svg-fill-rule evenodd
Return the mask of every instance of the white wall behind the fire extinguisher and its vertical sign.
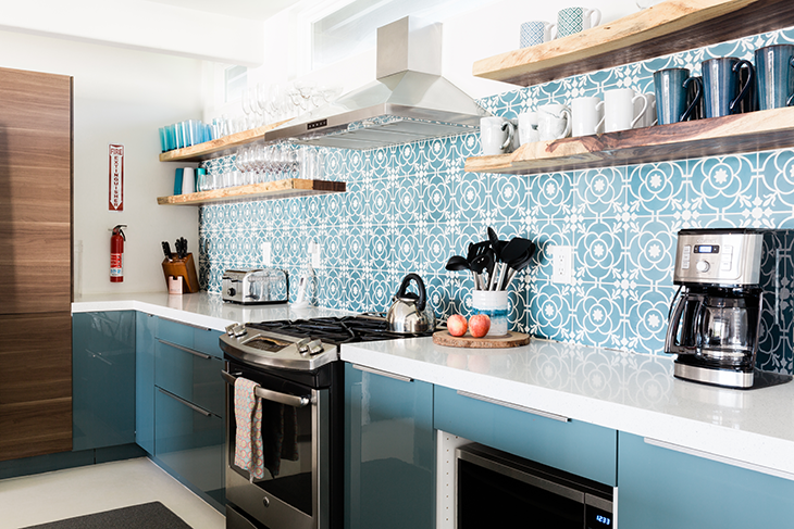
<path id="1" fill-rule="evenodd" d="M 164 290 L 160 242 L 185 237 L 197 254 L 198 212 L 157 204 L 176 167 L 158 160 L 158 127 L 201 116 L 201 62 L 9 32 L 0 49 L 0 67 L 74 77 L 75 294 Z M 108 143 L 125 147 L 123 212 L 108 211 Z M 122 284 L 109 280 L 116 224 L 129 226 Z"/>

